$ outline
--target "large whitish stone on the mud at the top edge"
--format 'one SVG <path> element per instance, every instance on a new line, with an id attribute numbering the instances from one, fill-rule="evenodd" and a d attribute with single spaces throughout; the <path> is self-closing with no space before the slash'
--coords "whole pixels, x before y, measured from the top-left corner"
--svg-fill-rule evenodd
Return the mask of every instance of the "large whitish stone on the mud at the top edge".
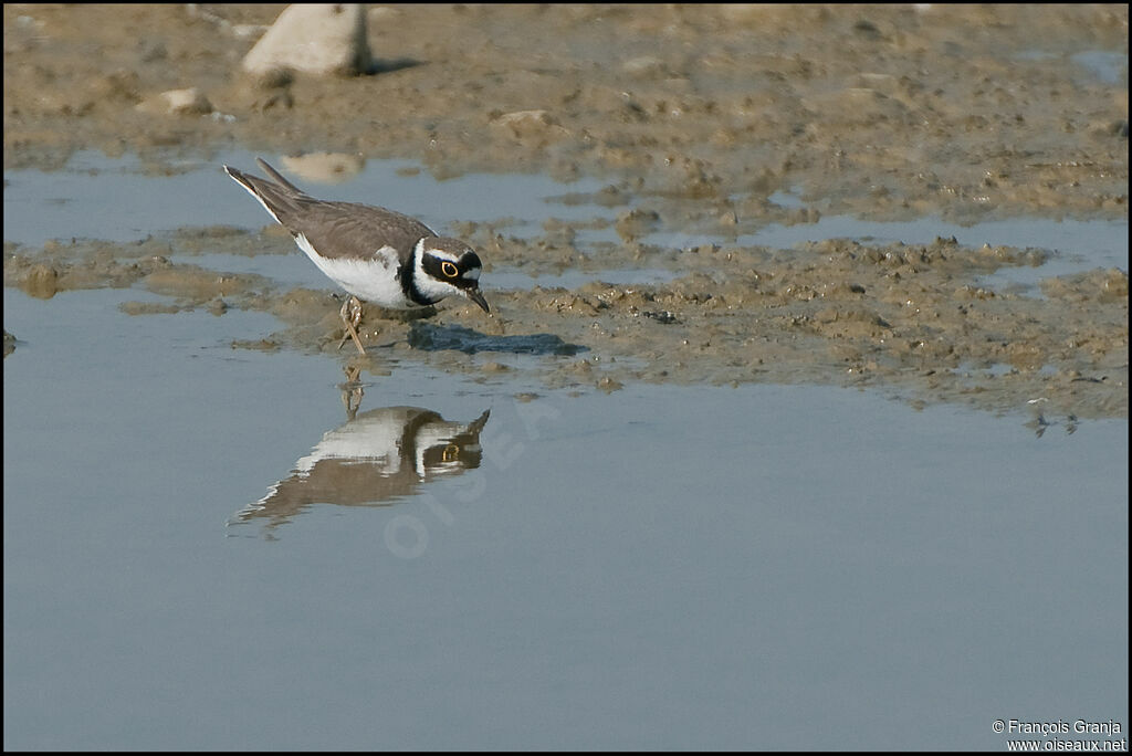
<path id="1" fill-rule="evenodd" d="M 243 69 L 348 76 L 367 71 L 371 62 L 365 6 L 311 3 L 288 6 L 245 55 Z"/>

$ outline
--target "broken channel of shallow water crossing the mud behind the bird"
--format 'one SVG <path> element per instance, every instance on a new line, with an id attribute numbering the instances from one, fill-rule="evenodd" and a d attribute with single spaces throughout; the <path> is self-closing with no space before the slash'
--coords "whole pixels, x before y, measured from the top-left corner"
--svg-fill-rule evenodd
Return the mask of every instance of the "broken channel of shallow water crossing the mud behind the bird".
<path id="1" fill-rule="evenodd" d="M 250 230 L 268 225 L 271 218 L 266 214 L 249 212 L 247 203 L 237 201 L 242 199 L 239 195 L 233 199 L 232 192 L 225 191 L 231 188 L 217 181 L 225 178 L 220 167 L 225 163 L 254 167 L 255 155 L 229 151 L 211 161 L 186 160 L 179 165 L 182 172 L 175 175 L 151 175 L 136 158 L 127 156 L 112 161 L 92 152 L 76 155 L 66 171 L 10 171 L 5 174 L 5 241 L 42 244 L 49 239 L 77 237 L 125 242 L 182 226 L 231 225 Z M 617 212 L 609 207 L 561 201 L 567 196 L 600 189 L 601 182 L 593 179 L 563 184 L 542 175 L 480 173 L 436 180 L 412 161 L 388 160 L 366 162 L 355 175 L 342 183 L 306 181 L 319 197 L 385 203 L 422 218 L 441 233 L 454 221 L 499 221 L 496 215 L 483 215 L 484 205 L 480 199 L 483 196 L 491 197 L 492 208 L 507 208 L 513 222 L 500 226 L 507 234 L 534 234 L 549 220 L 599 220 L 612 224 L 617 217 Z M 787 207 L 804 206 L 803 200 L 790 194 L 778 192 L 772 199 Z M 250 209 L 255 211 L 255 206 Z M 831 215 L 814 223 L 772 223 L 756 233 L 732 238 L 655 232 L 645 234 L 641 241 L 676 248 L 701 243 L 790 248 L 832 238 L 927 244 L 937 237 L 954 237 L 967 247 L 990 244 L 1047 250 L 1049 255 L 1043 265 L 1011 266 L 983 280 L 990 286 L 1012 284 L 1034 295 L 1040 295 L 1037 282 L 1045 277 L 1095 268 L 1127 270 L 1129 267 L 1126 218 L 1054 221 L 1021 217 L 959 225 L 937 217 L 881 222 Z M 578 232 L 581 247 L 597 242 L 618 242 L 618 235 L 611 229 Z M 217 255 L 197 261 L 232 273 L 266 275 L 280 283 L 325 287 L 318 270 L 299 255 L 272 256 L 266 261 Z M 556 276 L 531 277 L 503 269 L 498 287 L 576 287 L 594 280 L 655 283 L 670 280 L 670 274 L 661 269 L 614 268 L 602 274 L 564 272 Z"/>

